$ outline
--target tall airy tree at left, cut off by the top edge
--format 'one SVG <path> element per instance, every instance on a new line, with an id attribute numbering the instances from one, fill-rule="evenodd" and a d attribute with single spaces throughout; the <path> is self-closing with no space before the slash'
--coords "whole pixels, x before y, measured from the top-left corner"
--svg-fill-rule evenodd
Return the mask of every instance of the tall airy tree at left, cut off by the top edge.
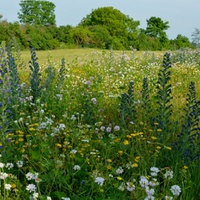
<path id="1" fill-rule="evenodd" d="M 55 4 L 41 0 L 21 0 L 18 18 L 21 23 L 30 25 L 55 25 Z"/>

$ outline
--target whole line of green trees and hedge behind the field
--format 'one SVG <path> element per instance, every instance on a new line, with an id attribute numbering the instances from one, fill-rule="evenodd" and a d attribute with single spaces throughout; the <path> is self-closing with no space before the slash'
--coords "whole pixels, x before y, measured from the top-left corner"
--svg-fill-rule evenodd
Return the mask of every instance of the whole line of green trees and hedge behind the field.
<path id="1" fill-rule="evenodd" d="M 92 10 L 77 26 L 56 26 L 55 5 L 49 1 L 23 0 L 18 12 L 19 22 L 11 23 L 0 16 L 0 43 L 13 38 L 22 49 L 101 48 L 126 50 L 165 50 L 193 48 L 186 36 L 168 39 L 168 21 L 152 16 L 146 29 L 140 22 L 113 7 Z M 198 30 L 198 29 L 197 29 Z"/>

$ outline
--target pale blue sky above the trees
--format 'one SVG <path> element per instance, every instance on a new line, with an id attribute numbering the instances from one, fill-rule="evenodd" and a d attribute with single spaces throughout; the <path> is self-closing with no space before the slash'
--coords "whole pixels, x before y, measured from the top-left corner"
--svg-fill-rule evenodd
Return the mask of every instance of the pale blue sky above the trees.
<path id="1" fill-rule="evenodd" d="M 146 20 L 160 17 L 168 21 L 169 39 L 178 34 L 188 37 L 200 28 L 200 0 L 49 0 L 56 5 L 57 26 L 76 26 L 83 17 L 99 7 L 112 6 L 123 14 L 140 21 L 139 28 L 146 28 Z M 9 22 L 19 21 L 17 12 L 20 0 L 0 0 L 0 14 Z"/>

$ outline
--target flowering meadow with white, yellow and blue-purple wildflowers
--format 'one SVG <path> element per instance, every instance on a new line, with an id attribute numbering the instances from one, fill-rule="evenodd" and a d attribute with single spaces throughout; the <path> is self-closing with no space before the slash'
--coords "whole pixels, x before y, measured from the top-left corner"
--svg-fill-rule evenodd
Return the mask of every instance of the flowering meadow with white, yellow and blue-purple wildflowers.
<path id="1" fill-rule="evenodd" d="M 199 200 L 200 51 L 40 65 L 0 48 L 0 199 Z"/>

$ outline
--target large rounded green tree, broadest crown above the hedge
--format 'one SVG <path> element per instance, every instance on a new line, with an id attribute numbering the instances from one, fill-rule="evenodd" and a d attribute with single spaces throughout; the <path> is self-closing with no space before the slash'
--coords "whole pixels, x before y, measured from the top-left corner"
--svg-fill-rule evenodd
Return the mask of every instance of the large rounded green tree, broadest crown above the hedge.
<path id="1" fill-rule="evenodd" d="M 88 28 L 102 26 L 109 32 L 115 44 L 121 43 L 120 46 L 128 48 L 128 41 L 136 38 L 139 24 L 139 21 L 134 21 L 113 7 L 102 7 L 93 10 L 91 14 L 81 20 L 79 25 Z M 97 31 L 99 31 L 99 27 Z M 104 33 L 107 34 L 106 31 Z"/>

